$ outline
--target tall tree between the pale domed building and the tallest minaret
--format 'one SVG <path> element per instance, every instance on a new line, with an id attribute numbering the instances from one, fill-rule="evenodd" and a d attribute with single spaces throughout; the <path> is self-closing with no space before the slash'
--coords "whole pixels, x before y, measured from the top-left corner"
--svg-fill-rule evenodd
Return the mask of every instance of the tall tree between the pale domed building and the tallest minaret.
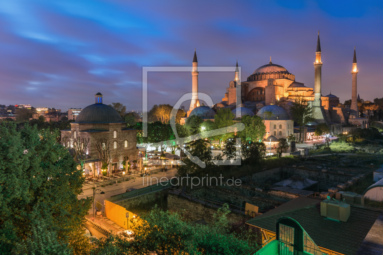
<path id="1" fill-rule="evenodd" d="M 295 101 L 291 101 L 291 115 L 293 115 L 293 119 L 295 122 L 298 122 L 299 125 L 299 140 L 302 138 L 302 130 L 304 126 L 314 121 L 312 116 L 313 109 L 307 104 L 307 100 L 302 96 L 296 96 Z"/>

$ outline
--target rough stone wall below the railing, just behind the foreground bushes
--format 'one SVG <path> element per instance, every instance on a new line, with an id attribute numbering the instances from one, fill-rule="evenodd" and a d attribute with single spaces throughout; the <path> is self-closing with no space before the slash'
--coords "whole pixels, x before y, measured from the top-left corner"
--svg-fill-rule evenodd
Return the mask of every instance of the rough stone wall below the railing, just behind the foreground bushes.
<path id="1" fill-rule="evenodd" d="M 180 213 L 188 221 L 204 219 L 210 223 L 213 222 L 214 214 L 217 213 L 217 208 L 210 208 L 201 203 L 173 194 L 168 195 L 167 208 L 170 212 Z M 235 213 L 230 213 L 228 214 L 228 219 L 230 223 L 234 223 L 242 220 L 243 217 Z"/>

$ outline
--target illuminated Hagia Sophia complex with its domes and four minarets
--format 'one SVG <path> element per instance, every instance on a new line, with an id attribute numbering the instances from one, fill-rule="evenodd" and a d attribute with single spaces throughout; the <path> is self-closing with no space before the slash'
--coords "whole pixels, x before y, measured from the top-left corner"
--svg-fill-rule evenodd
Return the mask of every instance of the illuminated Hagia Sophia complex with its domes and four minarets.
<path id="1" fill-rule="evenodd" d="M 264 112 L 272 112 L 272 116 L 265 119 L 267 136 L 275 138 L 286 138 L 292 133 L 299 133 L 293 126 L 293 118 L 291 116 L 291 102 L 296 96 L 304 97 L 308 101 L 308 105 L 312 107 L 314 122 L 309 123 L 304 134 L 304 140 L 309 139 L 309 133 L 314 130 L 318 123 L 326 123 L 330 127 L 331 135 L 342 132 L 345 125 L 358 125 L 360 127 L 368 127 L 368 118 L 360 118 L 357 98 L 357 60 L 356 51 L 354 49 L 354 58 L 352 62 L 352 86 L 350 86 L 352 99 L 351 108 L 346 109 L 340 107 L 339 97 L 331 94 L 322 96 L 321 91 L 321 44 L 318 41 L 315 52 L 314 62 L 314 88 L 305 86 L 295 80 L 295 75 L 290 73 L 285 67 L 270 62 L 267 65 L 257 68 L 254 73 L 247 77 L 246 81 L 240 81 L 238 62 L 234 72 L 234 80 L 229 82 L 226 93 L 222 101 L 209 107 L 200 103 L 198 99 L 198 61 L 196 51 L 193 57 L 192 70 L 192 99 L 187 116 L 198 115 L 203 119 L 214 120 L 214 115 L 220 108 L 229 108 L 235 117 L 244 115 L 258 115 L 264 118 Z M 240 95 L 237 95 L 240 91 Z M 241 100 L 238 102 L 237 100 Z M 237 110 L 241 109 L 241 114 L 237 114 Z"/>

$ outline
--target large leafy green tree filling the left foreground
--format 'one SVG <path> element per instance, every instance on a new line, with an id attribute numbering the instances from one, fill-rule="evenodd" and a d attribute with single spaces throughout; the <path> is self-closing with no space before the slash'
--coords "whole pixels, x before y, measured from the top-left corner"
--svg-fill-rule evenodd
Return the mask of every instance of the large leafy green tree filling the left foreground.
<path id="1" fill-rule="evenodd" d="M 0 247 L 4 254 L 22 246 L 22 240 L 34 242 L 29 247 L 36 250 L 49 238 L 50 247 L 69 244 L 75 254 L 79 254 L 75 247 L 87 245 L 83 220 L 92 201 L 77 199 L 85 178 L 67 149 L 56 142 L 57 135 L 56 130 L 39 131 L 29 125 L 16 130 L 15 123 L 0 123 Z M 41 239 L 34 239 L 36 233 Z"/>

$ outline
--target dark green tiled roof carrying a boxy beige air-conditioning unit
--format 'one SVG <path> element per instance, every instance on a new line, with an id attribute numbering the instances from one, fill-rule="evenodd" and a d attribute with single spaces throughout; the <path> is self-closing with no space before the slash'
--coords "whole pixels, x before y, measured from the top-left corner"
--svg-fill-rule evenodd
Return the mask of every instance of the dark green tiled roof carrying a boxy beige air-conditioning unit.
<path id="1" fill-rule="evenodd" d="M 351 206 L 347 222 L 338 223 L 321 216 L 321 201 L 298 197 L 247 223 L 276 232 L 277 219 L 282 216 L 290 217 L 298 221 L 319 247 L 345 255 L 354 255 L 381 212 Z"/>

